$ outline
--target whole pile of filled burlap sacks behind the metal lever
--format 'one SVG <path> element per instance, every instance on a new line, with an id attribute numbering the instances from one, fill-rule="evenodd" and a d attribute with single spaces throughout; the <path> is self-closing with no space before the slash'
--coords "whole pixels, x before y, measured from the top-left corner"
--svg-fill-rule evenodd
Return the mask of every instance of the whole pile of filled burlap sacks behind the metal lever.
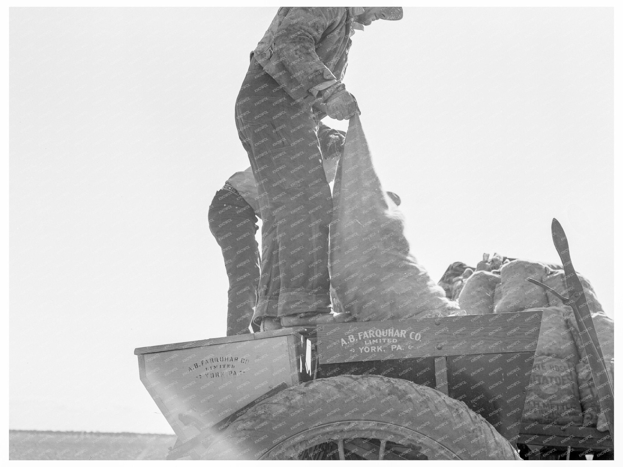
<path id="1" fill-rule="evenodd" d="M 457 277 L 460 279 L 454 280 Z M 612 374 L 614 321 L 604 313 L 591 283 L 581 274 L 578 277 L 584 288 L 606 366 Z M 597 391 L 573 309 L 564 306 L 552 293 L 528 282 L 528 278 L 548 285 L 563 296 L 569 296 L 564 270 L 560 265 L 511 260 L 497 253 L 491 260 L 485 255 L 475 271 L 466 267 L 454 278 L 444 275 L 442 281 L 450 280 L 453 284 L 460 282 L 459 286 L 444 290 L 452 296 L 458 293 L 455 298 L 467 314 L 543 310 L 523 420 L 597 426 L 602 431 L 606 430 L 605 417 L 599 413 Z"/>

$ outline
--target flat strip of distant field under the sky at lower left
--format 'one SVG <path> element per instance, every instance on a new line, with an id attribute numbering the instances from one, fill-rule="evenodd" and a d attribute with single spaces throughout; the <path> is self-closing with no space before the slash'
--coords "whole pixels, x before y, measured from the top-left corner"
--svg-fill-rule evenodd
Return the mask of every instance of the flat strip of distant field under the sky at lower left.
<path id="1" fill-rule="evenodd" d="M 9 430 L 9 460 L 163 460 L 174 435 Z"/>

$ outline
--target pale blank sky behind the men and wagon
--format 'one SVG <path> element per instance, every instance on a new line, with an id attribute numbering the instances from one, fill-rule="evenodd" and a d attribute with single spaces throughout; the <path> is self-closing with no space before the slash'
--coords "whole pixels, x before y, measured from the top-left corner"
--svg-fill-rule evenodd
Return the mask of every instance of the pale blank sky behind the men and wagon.
<path id="1" fill-rule="evenodd" d="M 234 101 L 276 11 L 11 10 L 10 428 L 172 433 L 133 349 L 226 334 L 207 210 L 249 166 Z M 406 8 L 356 32 L 346 87 L 433 280 L 558 262 L 556 217 L 614 316 L 612 21 Z"/>

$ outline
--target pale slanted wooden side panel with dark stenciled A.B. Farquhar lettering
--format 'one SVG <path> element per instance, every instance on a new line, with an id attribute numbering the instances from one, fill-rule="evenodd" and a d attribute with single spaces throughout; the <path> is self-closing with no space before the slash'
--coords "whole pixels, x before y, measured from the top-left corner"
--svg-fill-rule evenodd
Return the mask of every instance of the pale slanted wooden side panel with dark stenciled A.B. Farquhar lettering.
<path id="1" fill-rule="evenodd" d="M 247 339 L 140 354 L 141 381 L 186 441 L 273 387 L 293 385 L 288 340 L 299 338 Z"/>

